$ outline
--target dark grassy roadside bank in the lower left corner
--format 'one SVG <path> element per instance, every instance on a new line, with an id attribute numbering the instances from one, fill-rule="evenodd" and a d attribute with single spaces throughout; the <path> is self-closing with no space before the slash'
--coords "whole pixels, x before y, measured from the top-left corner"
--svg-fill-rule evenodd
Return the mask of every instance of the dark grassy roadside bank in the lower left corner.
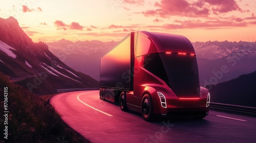
<path id="1" fill-rule="evenodd" d="M 8 87 L 8 125 L 4 125 L 4 87 Z M 0 142 L 90 142 L 61 120 L 48 102 L 21 86 L 11 83 L 0 73 Z M 4 129 L 8 126 L 8 139 Z"/>

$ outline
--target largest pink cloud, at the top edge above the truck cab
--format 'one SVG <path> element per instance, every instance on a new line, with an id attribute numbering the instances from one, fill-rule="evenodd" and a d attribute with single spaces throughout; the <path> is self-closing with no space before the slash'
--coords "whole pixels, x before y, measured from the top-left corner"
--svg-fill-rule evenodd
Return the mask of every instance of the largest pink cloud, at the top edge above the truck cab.
<path id="1" fill-rule="evenodd" d="M 243 10 L 234 0 L 205 0 L 205 1 L 188 1 L 188 0 L 161 0 L 156 2 L 155 10 L 146 10 L 141 12 L 144 16 L 159 16 L 167 18 L 173 15 L 186 17 L 207 17 L 210 14 L 227 13 L 231 11 Z"/>

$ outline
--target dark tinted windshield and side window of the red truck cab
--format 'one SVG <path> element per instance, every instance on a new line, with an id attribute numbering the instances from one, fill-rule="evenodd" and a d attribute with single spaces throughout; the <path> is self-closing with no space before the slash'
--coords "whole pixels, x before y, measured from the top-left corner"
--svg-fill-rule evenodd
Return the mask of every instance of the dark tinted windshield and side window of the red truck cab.
<path id="1" fill-rule="evenodd" d="M 148 56 L 152 58 L 152 62 L 145 68 L 165 81 L 178 97 L 199 96 L 200 83 L 196 56 L 165 53 Z"/>

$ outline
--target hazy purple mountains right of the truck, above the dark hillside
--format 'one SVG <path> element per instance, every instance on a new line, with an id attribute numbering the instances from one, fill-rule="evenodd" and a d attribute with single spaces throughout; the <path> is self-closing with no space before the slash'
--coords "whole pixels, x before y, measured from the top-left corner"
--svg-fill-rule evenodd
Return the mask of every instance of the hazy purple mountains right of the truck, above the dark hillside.
<path id="1" fill-rule="evenodd" d="M 217 84 L 256 70 L 256 42 L 207 41 L 194 42 L 193 45 L 201 86 Z M 225 68 L 226 72 L 223 72 Z"/>

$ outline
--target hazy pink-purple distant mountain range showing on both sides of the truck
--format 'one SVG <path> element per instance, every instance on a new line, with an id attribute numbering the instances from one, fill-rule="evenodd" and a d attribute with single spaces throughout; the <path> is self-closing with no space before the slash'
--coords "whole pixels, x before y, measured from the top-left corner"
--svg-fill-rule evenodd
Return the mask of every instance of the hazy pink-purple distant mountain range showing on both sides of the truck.
<path id="1" fill-rule="evenodd" d="M 47 45 L 68 66 L 99 80 L 100 58 L 117 43 L 61 39 Z M 207 41 L 193 42 L 193 45 L 198 57 L 201 86 L 237 78 L 256 70 L 256 42 Z M 228 72 L 220 74 L 225 67 Z"/>

